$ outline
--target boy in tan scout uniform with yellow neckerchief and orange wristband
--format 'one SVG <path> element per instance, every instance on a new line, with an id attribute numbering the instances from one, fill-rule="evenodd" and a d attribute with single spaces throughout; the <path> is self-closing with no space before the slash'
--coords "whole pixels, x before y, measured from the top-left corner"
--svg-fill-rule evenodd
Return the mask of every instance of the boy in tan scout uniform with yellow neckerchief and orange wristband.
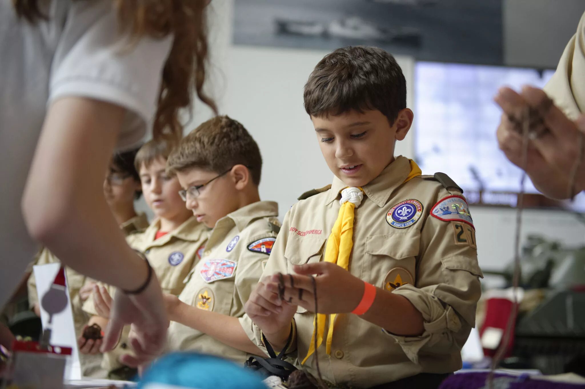
<path id="1" fill-rule="evenodd" d="M 326 55 L 304 100 L 335 178 L 288 211 L 242 327 L 263 350 L 291 337 L 288 356 L 333 387 L 437 388 L 462 365 L 481 294 L 462 190 L 393 157 L 414 114 L 386 51 Z"/>

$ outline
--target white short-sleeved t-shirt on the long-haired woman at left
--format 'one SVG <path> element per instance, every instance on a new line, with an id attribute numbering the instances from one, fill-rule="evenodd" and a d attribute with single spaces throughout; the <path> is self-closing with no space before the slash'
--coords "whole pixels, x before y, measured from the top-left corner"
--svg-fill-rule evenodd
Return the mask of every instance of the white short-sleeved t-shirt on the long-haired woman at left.
<path id="1" fill-rule="evenodd" d="M 112 3 L 52 0 L 49 19 L 33 25 L 0 1 L 0 308 L 36 251 L 20 202 L 47 106 L 84 96 L 125 107 L 119 148 L 140 141 L 152 123 L 172 37 L 130 46 Z"/>

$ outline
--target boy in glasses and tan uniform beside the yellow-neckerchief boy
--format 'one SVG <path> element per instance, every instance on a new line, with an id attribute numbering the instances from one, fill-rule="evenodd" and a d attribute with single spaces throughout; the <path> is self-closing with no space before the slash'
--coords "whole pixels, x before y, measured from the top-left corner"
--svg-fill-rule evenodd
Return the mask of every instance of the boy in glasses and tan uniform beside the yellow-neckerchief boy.
<path id="1" fill-rule="evenodd" d="M 170 349 L 198 350 L 237 363 L 245 362 L 247 352 L 260 353 L 232 318 L 243 316 L 280 230 L 277 203 L 260 201 L 261 168 L 258 145 L 228 116 L 201 124 L 168 157 L 167 170 L 184 188 L 187 208 L 213 228 L 183 292 L 178 298 L 165 296 Z M 222 336 L 243 339 L 247 352 L 237 349 L 238 343 L 219 341 Z"/>

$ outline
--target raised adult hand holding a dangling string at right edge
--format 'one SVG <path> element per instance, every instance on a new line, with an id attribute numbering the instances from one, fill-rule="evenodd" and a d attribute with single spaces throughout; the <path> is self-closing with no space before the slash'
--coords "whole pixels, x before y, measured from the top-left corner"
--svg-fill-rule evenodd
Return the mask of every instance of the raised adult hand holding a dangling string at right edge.
<path id="1" fill-rule="evenodd" d="M 579 159 L 579 133 L 585 132 L 585 116 L 572 121 L 552 105 L 541 89 L 525 86 L 521 93 L 501 88 L 494 98 L 503 115 L 497 130 L 498 144 L 510 161 L 526 169 L 536 189 L 557 199 L 571 197 L 569 180 Z M 522 162 L 523 122 L 529 107 L 536 116 L 529 131 L 536 130 L 528 144 L 526 164 Z M 538 118 L 542 118 L 542 122 Z M 545 130 L 546 129 L 546 130 Z M 543 131 L 545 130 L 545 131 Z M 585 189 L 585 164 L 575 175 L 575 193 Z M 574 193 L 573 193 L 574 194 Z"/>

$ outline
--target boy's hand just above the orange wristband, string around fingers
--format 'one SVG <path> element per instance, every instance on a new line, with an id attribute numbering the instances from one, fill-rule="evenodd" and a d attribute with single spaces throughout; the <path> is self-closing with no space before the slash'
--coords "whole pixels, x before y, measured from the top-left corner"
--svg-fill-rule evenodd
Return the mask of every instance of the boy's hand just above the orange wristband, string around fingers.
<path id="1" fill-rule="evenodd" d="M 364 283 L 350 272 L 331 262 L 295 265 L 295 275 L 283 275 L 284 300 L 315 312 L 315 295 L 310 275 L 315 275 L 317 307 L 321 314 L 346 313 L 355 310 L 362 300 Z M 270 284 L 278 293 L 278 283 Z M 302 291 L 301 291 L 302 290 Z M 299 298 L 300 297 L 300 298 Z"/>

